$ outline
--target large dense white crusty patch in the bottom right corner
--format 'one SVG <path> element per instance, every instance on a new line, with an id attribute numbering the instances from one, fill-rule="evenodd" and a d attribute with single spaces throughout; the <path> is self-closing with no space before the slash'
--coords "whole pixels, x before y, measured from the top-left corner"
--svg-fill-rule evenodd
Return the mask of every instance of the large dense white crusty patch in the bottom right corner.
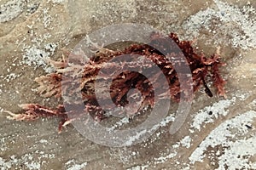
<path id="1" fill-rule="evenodd" d="M 251 156 L 256 155 L 256 134 L 252 137 L 244 137 L 256 118 L 256 111 L 247 111 L 238 115 L 215 128 L 207 138 L 191 154 L 189 161 L 194 164 L 196 161 L 203 161 L 207 147 L 221 145 L 224 154 L 218 157 L 218 169 L 254 168 L 255 163 L 249 161 Z"/>

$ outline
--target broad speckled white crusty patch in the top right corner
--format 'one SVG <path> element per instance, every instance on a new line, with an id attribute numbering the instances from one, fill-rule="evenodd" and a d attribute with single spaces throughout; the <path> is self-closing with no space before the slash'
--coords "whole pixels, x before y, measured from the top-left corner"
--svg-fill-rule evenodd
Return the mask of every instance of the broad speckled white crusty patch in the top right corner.
<path id="1" fill-rule="evenodd" d="M 183 30 L 186 31 L 184 38 L 199 37 L 201 30 L 207 30 L 212 33 L 214 43 L 231 43 L 234 48 L 256 48 L 256 20 L 253 17 L 256 12 L 253 5 L 248 2 L 240 8 L 220 0 L 213 2 L 211 8 L 201 10 L 183 22 Z M 214 24 L 216 20 L 220 22 L 218 25 Z"/>

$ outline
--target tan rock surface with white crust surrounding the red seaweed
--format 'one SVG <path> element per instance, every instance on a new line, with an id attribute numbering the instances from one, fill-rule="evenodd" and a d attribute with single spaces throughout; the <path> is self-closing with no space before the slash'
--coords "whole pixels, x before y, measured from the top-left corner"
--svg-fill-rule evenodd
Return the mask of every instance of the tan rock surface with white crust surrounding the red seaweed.
<path id="1" fill-rule="evenodd" d="M 255 8 L 244 0 L 1 0 L 0 169 L 256 169 Z M 55 118 L 6 119 L 20 104 L 61 102 L 36 93 L 34 78 L 52 71 L 44 58 L 127 22 L 177 32 L 205 54 L 220 47 L 227 99 L 198 92 L 177 133 L 168 133 L 170 111 L 147 141 L 124 148 L 95 144 L 72 125 L 59 134 Z"/>

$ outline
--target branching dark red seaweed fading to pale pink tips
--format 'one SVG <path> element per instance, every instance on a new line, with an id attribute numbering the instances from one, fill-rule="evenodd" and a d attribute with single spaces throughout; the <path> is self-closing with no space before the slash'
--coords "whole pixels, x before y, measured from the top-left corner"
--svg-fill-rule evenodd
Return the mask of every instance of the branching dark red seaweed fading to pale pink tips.
<path id="1" fill-rule="evenodd" d="M 158 88 L 155 90 L 159 90 L 160 99 L 165 99 L 168 95 L 166 92 L 169 90 L 171 93 L 172 100 L 179 102 L 181 93 L 185 94 L 186 99 L 191 99 L 190 96 L 186 96 L 185 91 L 181 92 L 180 90 L 180 82 L 177 77 L 177 72 L 173 67 L 173 63 L 171 63 L 168 59 L 166 59 L 165 54 L 160 53 L 157 49 L 166 48 L 166 41 L 172 38 L 173 42 L 177 44 L 177 46 L 182 50 L 183 54 L 180 53 L 172 53 L 169 54 L 166 51 L 166 54 L 172 55 L 173 58 L 179 59 L 183 55 L 189 64 L 190 71 L 192 73 L 193 79 L 193 91 L 196 92 L 201 88 L 201 85 L 204 86 L 205 92 L 209 97 L 212 97 L 213 94 L 207 86 L 207 77 L 211 76 L 211 81 L 213 82 L 213 86 L 217 90 L 217 94 L 219 96 L 225 97 L 224 92 L 224 84 L 226 83 L 224 79 L 220 76 L 219 67 L 223 66 L 224 63 L 221 62 L 219 53 L 213 54 L 210 57 L 206 57 L 204 54 L 196 54 L 194 48 L 192 48 L 192 42 L 189 41 L 180 41 L 176 34 L 171 33 L 168 36 L 162 36 L 159 33 L 154 32 L 151 36 L 151 42 L 149 44 L 131 44 L 129 47 L 124 50 L 110 50 L 108 48 L 100 48 L 94 56 L 89 59 L 86 65 L 84 65 L 84 61 L 80 59 L 79 54 L 68 54 L 73 55 L 73 63 L 68 63 L 66 57 L 64 56 L 61 61 L 55 61 L 49 59 L 49 64 L 55 67 L 55 72 L 50 73 L 43 77 L 37 77 L 35 79 L 38 82 L 38 94 L 45 98 L 55 96 L 56 99 L 61 99 L 61 94 L 82 94 L 76 101 L 82 101 L 84 104 L 84 110 L 89 111 L 96 120 L 101 121 L 108 116 L 105 114 L 106 111 L 103 111 L 102 108 L 108 108 L 109 111 L 113 111 L 113 105 L 99 105 L 96 99 L 95 94 L 95 82 L 96 77 L 101 71 L 104 63 L 109 61 L 110 59 L 118 58 L 120 55 L 136 55 L 140 57 L 138 62 L 127 62 L 125 60 L 121 60 L 120 63 L 111 63 L 107 65 L 108 69 L 105 69 L 102 73 L 103 79 L 108 79 L 109 74 L 113 70 L 117 70 L 120 66 L 130 67 L 151 67 L 150 63 L 148 63 L 147 59 L 150 59 L 154 62 L 155 65 L 158 65 L 160 71 L 165 75 L 167 82 L 169 83 L 168 89 L 162 88 L 161 84 L 158 84 Z M 153 47 L 157 47 L 153 48 Z M 106 67 L 106 65 L 104 65 Z M 154 75 L 154 80 L 160 77 L 158 72 L 152 71 Z M 184 73 L 185 74 L 185 73 Z M 61 83 L 68 84 L 76 82 L 79 86 L 73 86 L 68 88 L 61 87 Z M 189 85 L 189 84 L 188 84 Z M 66 86 L 65 86 L 66 87 Z M 129 99 L 127 99 L 127 93 L 131 88 L 137 88 L 138 92 L 142 94 L 143 98 L 141 101 L 140 109 L 145 106 L 154 107 L 155 102 L 158 102 L 154 99 L 154 89 L 152 84 L 148 81 L 146 77 L 144 77 L 139 72 L 134 71 L 125 71 L 119 74 L 112 80 L 112 84 L 110 87 L 110 96 L 115 105 L 125 106 L 129 103 Z M 104 96 L 104 92 L 102 92 L 102 96 Z M 76 96 L 76 95 L 74 95 Z M 80 102 L 79 102 L 80 103 Z M 80 105 L 79 103 L 75 103 L 70 101 L 70 105 Z M 20 114 L 13 114 L 9 112 L 8 118 L 17 120 L 17 121 L 32 121 L 38 119 L 38 117 L 47 117 L 47 116 L 59 116 L 61 117 L 61 122 L 59 125 L 59 132 L 61 132 L 61 128 L 67 126 L 73 120 L 67 116 L 67 113 L 72 111 L 65 111 L 64 105 L 58 105 L 56 109 L 44 107 L 43 105 L 38 104 L 26 104 L 20 105 L 21 109 L 25 112 Z M 129 115 L 134 115 L 138 111 L 129 111 Z M 79 117 L 78 111 L 73 111 L 73 114 L 76 114 L 76 117 Z"/>

